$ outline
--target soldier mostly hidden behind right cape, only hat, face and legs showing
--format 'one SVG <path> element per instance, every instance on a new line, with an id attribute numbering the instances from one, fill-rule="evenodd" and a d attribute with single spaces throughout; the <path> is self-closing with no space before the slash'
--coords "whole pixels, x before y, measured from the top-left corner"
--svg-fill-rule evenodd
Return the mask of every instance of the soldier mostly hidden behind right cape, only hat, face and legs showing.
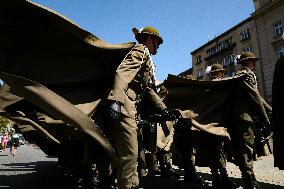
<path id="1" fill-rule="evenodd" d="M 213 64 L 210 70 L 210 79 L 212 81 L 222 80 L 224 78 L 224 72 L 226 69 L 220 64 Z M 209 139 L 210 138 L 210 139 Z M 210 140 L 209 149 L 212 154 L 212 159 L 209 164 L 212 173 L 212 188 L 236 188 L 229 177 L 226 170 L 226 154 L 225 154 L 225 141 L 220 136 L 208 136 Z"/>

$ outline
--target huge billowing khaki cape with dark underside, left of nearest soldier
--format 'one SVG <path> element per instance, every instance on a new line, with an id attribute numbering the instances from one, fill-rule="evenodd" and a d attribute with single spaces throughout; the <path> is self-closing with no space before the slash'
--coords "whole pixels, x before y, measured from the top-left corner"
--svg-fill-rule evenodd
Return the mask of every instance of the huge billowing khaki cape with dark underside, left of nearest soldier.
<path id="1" fill-rule="evenodd" d="M 91 116 L 135 43 L 108 44 L 28 0 L 1 2 L 0 28 L 1 115 L 53 144 L 60 143 L 63 128 L 77 128 L 115 162 L 112 145 Z M 35 112 L 41 116 L 30 115 Z"/>

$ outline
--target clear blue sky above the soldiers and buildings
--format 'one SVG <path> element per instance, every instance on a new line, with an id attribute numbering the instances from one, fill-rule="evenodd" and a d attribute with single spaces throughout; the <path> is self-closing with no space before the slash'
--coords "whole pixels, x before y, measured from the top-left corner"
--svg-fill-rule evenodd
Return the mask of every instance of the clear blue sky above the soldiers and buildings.
<path id="1" fill-rule="evenodd" d="M 157 28 L 164 40 L 153 56 L 156 77 L 191 68 L 191 54 L 248 18 L 253 0 L 32 0 L 74 21 L 98 38 L 120 44 L 135 41 L 133 27 Z"/>

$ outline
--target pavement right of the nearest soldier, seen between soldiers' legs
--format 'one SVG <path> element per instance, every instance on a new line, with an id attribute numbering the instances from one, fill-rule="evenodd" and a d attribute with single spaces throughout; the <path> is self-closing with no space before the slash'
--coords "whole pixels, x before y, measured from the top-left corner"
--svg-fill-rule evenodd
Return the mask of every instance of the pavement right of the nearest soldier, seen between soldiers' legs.
<path id="1" fill-rule="evenodd" d="M 174 188 L 174 189 L 199 189 L 199 188 L 210 188 L 212 183 L 210 169 L 208 167 L 196 167 L 197 173 L 205 180 L 207 187 L 202 187 L 198 184 L 181 184 L 182 179 L 169 180 L 162 178 L 143 178 L 142 182 L 146 189 L 155 189 L 159 188 Z M 241 172 L 238 167 L 228 162 L 227 170 L 229 177 L 236 184 L 239 185 L 241 189 Z M 265 189 L 284 189 L 284 170 L 279 170 L 278 168 L 273 167 L 273 155 L 260 157 L 257 161 L 254 161 L 254 171 L 257 180 L 260 185 Z"/>

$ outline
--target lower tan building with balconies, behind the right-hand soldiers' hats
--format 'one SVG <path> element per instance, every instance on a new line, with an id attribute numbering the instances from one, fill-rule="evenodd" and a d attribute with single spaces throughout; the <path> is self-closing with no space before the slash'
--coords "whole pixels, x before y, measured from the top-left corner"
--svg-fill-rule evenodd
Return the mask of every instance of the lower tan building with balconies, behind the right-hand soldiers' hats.
<path id="1" fill-rule="evenodd" d="M 259 56 L 256 26 L 253 17 L 245 19 L 191 52 L 193 75 L 197 79 L 206 80 L 206 68 L 218 63 L 227 70 L 225 76 L 234 76 L 239 69 L 235 58 L 242 52 L 253 52 L 256 56 Z M 259 75 L 258 79 L 261 80 L 261 71 L 258 65 L 256 74 Z"/>

